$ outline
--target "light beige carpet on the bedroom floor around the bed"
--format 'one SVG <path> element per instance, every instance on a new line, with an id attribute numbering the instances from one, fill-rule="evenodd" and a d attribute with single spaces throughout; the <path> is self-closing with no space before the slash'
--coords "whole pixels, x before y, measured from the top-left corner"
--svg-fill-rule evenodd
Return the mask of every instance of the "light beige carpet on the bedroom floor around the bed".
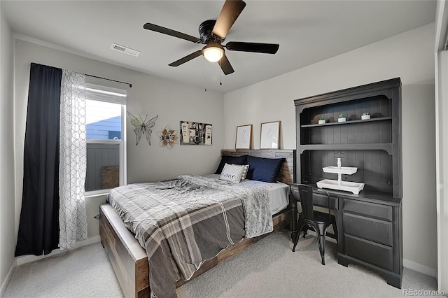
<path id="1" fill-rule="evenodd" d="M 435 278 L 405 269 L 402 290 L 361 267 L 337 264 L 337 245 L 325 243 L 321 264 L 314 236 L 291 251 L 281 229 L 177 290 L 189 297 L 403 297 L 404 290 L 435 291 Z M 24 264 L 3 297 L 123 297 L 99 243 Z"/>

